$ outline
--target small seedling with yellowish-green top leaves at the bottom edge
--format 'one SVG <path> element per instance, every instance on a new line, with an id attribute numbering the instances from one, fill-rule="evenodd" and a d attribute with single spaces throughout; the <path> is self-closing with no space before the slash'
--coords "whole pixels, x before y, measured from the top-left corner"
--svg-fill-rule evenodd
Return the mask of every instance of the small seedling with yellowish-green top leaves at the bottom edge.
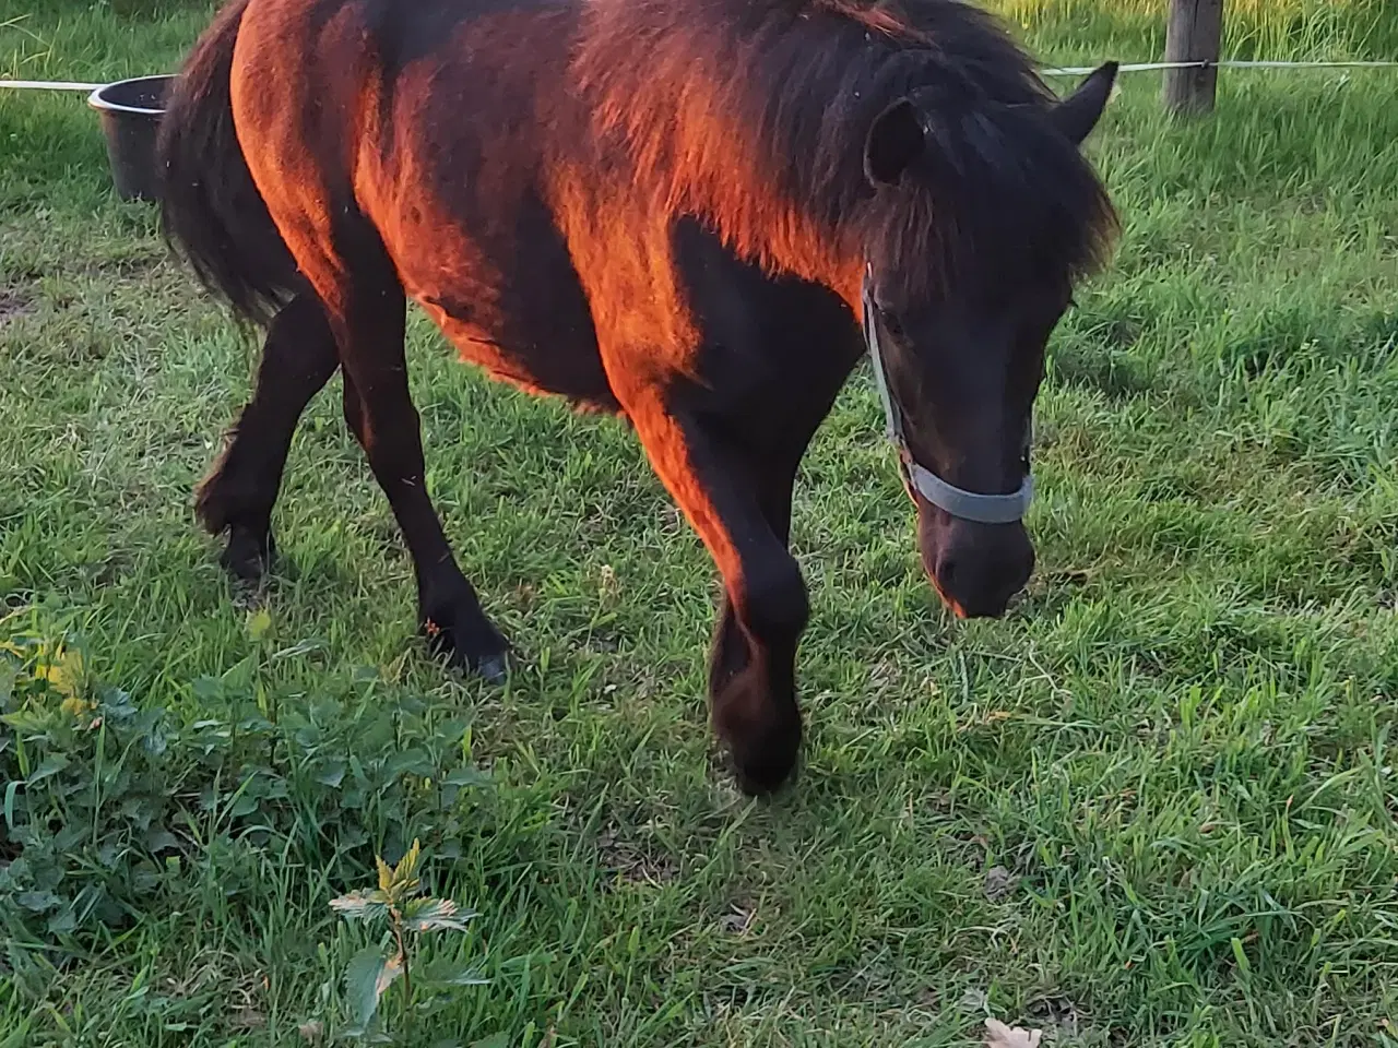
<path id="1" fill-rule="evenodd" d="M 348 921 L 387 924 L 380 940 L 359 950 L 345 970 L 345 995 L 354 1013 L 354 1023 L 344 1031 L 345 1037 L 376 1044 L 390 1040 L 376 1027 L 384 1023 L 380 1010 L 383 995 L 398 978 L 403 980 L 400 1014 L 408 1023 L 414 1017 L 436 1012 L 452 987 L 488 982 L 475 971 L 456 964 L 438 964 L 422 973 L 412 967 L 418 935 L 466 932 L 467 922 L 475 917 L 474 912 L 459 910 L 450 898 L 418 894 L 421 882 L 417 869 L 421 857 L 422 850 L 414 840 L 398 865 L 390 868 L 382 858 L 377 859 L 379 887 L 330 900 L 331 908 Z"/>

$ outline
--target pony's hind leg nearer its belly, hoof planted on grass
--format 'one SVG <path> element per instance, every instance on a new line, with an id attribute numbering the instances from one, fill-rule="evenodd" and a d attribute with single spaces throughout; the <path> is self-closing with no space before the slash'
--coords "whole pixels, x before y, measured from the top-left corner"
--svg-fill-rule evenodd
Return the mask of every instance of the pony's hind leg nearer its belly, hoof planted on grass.
<path id="1" fill-rule="evenodd" d="M 317 264 L 319 246 L 302 264 L 327 303 L 340 349 L 345 419 L 412 556 L 418 625 L 433 651 L 499 681 L 506 672 L 509 646 L 461 574 L 426 492 L 422 428 L 408 391 L 404 355 L 403 284 L 366 221 L 341 219 L 333 245 L 340 256 L 337 264 Z"/>

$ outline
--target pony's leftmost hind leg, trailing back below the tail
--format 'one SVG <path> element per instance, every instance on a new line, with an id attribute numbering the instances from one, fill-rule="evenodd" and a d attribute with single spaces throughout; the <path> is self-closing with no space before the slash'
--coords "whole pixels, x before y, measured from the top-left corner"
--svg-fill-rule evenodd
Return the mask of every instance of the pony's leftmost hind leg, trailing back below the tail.
<path id="1" fill-rule="evenodd" d="M 338 363 L 320 302 L 302 292 L 267 328 L 252 400 L 194 496 L 194 511 L 210 534 L 228 534 L 222 563 L 239 583 L 261 581 L 271 563 L 271 510 L 292 433 Z"/>

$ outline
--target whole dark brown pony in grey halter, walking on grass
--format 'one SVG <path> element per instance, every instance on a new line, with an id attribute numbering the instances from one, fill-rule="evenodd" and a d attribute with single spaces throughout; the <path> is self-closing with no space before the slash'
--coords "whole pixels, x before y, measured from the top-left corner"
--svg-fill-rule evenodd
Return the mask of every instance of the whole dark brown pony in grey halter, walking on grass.
<path id="1" fill-rule="evenodd" d="M 1114 77 L 1060 102 L 959 0 L 232 0 L 161 141 L 168 235 L 268 328 L 199 514 L 235 576 L 267 570 L 338 367 L 422 629 L 505 672 L 422 483 L 411 296 L 464 359 L 635 426 L 723 574 L 714 727 L 773 789 L 801 739 L 791 485 L 861 328 L 946 604 L 1001 615 L 1030 574 L 1030 408 L 1116 226 L 1079 154 Z"/>

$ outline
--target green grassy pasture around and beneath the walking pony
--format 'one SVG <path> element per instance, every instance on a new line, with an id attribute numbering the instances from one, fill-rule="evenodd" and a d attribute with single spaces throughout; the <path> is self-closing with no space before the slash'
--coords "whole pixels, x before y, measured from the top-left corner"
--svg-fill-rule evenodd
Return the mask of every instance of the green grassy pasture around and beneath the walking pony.
<path id="1" fill-rule="evenodd" d="M 1160 8 L 1001 3 L 1065 61 L 1158 56 Z M 168 70 L 206 17 L 0 0 L 0 77 Z M 1398 54 L 1381 0 L 1230 17 Z M 1227 74 L 1187 127 L 1158 89 L 1092 145 L 1127 229 L 1053 344 L 1029 599 L 938 608 L 867 370 L 822 430 L 769 803 L 716 770 L 713 572 L 633 439 L 421 317 L 429 483 L 527 665 L 424 657 L 337 393 L 231 601 L 190 488 L 250 351 L 81 96 L 0 94 L 0 1047 L 329 1042 L 373 942 L 330 900 L 414 837 L 480 911 L 415 974 L 489 984 L 410 1023 L 400 981 L 401 1044 L 1398 1045 L 1398 74 Z"/>

